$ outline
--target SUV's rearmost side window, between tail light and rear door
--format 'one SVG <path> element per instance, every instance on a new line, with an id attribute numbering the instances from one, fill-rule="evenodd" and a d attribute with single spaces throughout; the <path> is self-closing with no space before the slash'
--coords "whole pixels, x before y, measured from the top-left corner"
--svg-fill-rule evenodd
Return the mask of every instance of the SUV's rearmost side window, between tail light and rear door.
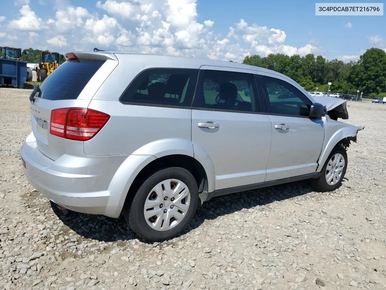
<path id="1" fill-rule="evenodd" d="M 198 70 L 151 69 L 142 72 L 124 92 L 123 103 L 190 107 Z"/>

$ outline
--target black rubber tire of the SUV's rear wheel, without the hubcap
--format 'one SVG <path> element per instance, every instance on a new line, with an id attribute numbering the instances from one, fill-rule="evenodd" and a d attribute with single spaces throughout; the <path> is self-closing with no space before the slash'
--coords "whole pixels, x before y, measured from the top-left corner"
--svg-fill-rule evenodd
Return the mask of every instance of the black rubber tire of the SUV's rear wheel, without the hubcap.
<path id="1" fill-rule="evenodd" d="M 146 222 L 144 217 L 144 206 L 147 196 L 150 191 L 158 183 L 166 179 L 179 179 L 188 186 L 190 191 L 190 206 L 186 212 L 185 217 L 179 222 L 176 226 L 169 230 L 155 230 L 152 229 Z M 159 171 L 154 172 L 149 177 L 147 177 L 143 183 L 139 186 L 136 191 L 134 198 L 130 205 L 125 206 L 124 208 L 124 217 L 126 222 L 129 224 L 130 228 L 146 241 L 158 242 L 165 241 L 174 236 L 178 235 L 180 232 L 185 230 L 193 216 L 196 213 L 198 206 L 198 187 L 195 178 L 193 175 L 182 167 L 167 167 Z"/>

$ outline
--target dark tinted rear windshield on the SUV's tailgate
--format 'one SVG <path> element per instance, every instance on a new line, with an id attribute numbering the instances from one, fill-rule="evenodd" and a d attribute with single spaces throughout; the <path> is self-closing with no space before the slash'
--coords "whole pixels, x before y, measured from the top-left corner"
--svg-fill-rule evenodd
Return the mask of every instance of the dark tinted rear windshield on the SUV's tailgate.
<path id="1" fill-rule="evenodd" d="M 40 97 L 52 101 L 78 98 L 103 63 L 105 60 L 65 61 L 42 82 Z"/>

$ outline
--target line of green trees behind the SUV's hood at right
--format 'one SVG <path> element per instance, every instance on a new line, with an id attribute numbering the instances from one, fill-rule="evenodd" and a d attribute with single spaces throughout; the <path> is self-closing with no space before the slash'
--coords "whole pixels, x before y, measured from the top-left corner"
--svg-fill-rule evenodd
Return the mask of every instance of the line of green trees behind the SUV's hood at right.
<path id="1" fill-rule="evenodd" d="M 283 73 L 309 92 L 327 92 L 328 82 L 332 82 L 332 93 L 356 95 L 360 90 L 364 96 L 386 97 L 386 52 L 379 48 L 367 49 L 358 61 L 349 63 L 312 53 L 302 57 L 281 53 L 252 55 L 246 56 L 243 63 Z"/>

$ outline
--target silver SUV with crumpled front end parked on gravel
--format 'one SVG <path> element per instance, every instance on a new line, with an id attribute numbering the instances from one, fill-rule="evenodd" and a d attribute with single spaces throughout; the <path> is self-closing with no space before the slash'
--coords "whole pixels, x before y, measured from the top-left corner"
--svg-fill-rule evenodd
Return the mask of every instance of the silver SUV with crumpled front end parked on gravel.
<path id="1" fill-rule="evenodd" d="M 336 189 L 362 129 L 337 121 L 345 100 L 315 100 L 259 67 L 110 52 L 66 60 L 30 96 L 25 176 L 61 208 L 123 213 L 147 241 L 179 234 L 222 194 L 303 179 Z"/>

